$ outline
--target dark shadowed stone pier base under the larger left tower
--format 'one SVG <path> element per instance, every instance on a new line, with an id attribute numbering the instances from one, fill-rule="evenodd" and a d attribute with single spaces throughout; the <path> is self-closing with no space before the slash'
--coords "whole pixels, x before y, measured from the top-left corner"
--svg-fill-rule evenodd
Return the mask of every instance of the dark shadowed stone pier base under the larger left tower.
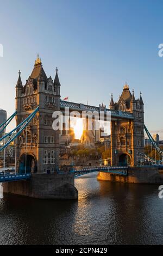
<path id="1" fill-rule="evenodd" d="M 41 199 L 77 199 L 73 174 L 32 174 L 30 180 L 4 182 L 4 193 Z"/>

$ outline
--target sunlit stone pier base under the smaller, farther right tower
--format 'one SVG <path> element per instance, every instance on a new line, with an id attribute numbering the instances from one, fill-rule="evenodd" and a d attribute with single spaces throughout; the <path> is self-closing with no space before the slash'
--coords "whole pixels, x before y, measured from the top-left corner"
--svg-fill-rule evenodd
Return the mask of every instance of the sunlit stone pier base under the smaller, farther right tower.
<path id="1" fill-rule="evenodd" d="M 129 167 L 127 176 L 99 172 L 97 179 L 135 184 L 163 185 L 163 174 L 159 174 L 157 167 Z"/>

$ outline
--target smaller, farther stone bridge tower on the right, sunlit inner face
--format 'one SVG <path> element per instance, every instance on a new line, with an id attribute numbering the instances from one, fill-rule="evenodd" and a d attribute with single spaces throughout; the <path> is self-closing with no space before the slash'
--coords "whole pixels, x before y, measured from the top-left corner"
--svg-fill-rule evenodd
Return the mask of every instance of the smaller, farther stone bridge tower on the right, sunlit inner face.
<path id="1" fill-rule="evenodd" d="M 144 107 L 140 98 L 135 100 L 125 84 L 118 102 L 112 95 L 110 109 L 133 113 L 133 120 L 111 120 L 111 165 L 137 166 L 144 150 Z"/>

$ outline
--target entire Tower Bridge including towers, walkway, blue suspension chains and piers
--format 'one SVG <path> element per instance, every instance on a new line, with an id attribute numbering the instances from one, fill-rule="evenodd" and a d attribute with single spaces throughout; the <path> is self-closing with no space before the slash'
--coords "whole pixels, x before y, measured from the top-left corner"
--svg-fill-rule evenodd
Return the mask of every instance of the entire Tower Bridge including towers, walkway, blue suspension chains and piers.
<path id="1" fill-rule="evenodd" d="M 158 174 L 158 167 L 149 168 L 149 172 L 147 167 L 141 167 L 143 179 L 139 178 L 141 174 L 138 166 L 140 166 L 140 158 L 144 155 L 145 128 L 141 93 L 139 99 L 135 99 L 134 91 L 131 94 L 129 86 L 125 84 L 120 99 L 115 102 L 111 95 L 109 108 L 106 108 L 103 104 L 97 107 L 61 100 L 60 87 L 58 69 L 53 81 L 52 77 L 47 77 L 43 70 L 39 56 L 24 86 L 19 72 L 16 84 L 16 112 L 0 125 L 0 132 L 14 117 L 16 117 L 16 128 L 9 133 L 8 142 L 0 150 L 16 139 L 15 175 L 17 174 L 17 180 L 21 180 L 20 175 L 24 173 L 29 173 L 30 176 L 27 181 L 16 181 L 16 176 L 12 176 L 15 181 L 5 182 L 4 191 L 39 198 L 77 198 L 74 175 L 78 176 L 79 172 L 77 170 L 70 173 L 60 172 L 59 130 L 54 131 L 52 127 L 53 112 L 61 111 L 64 114 L 65 108 L 70 112 L 78 111 L 80 114 L 84 111 L 92 114 L 103 112 L 104 120 L 107 114 L 110 115 L 111 167 L 97 167 L 99 179 L 139 183 L 139 181 L 148 182 L 149 176 Z M 154 144 L 150 133 L 148 136 Z M 0 141 L 3 139 L 5 136 L 1 137 Z M 155 144 L 154 147 L 156 148 Z M 129 166 L 127 172 L 125 166 Z M 91 170 L 80 170 L 80 174 Z M 125 176 L 123 180 L 122 176 Z M 152 178 L 150 179 L 152 182 Z M 158 182 L 159 178 L 156 180 Z M 7 181 L 7 178 L 4 181 Z"/>

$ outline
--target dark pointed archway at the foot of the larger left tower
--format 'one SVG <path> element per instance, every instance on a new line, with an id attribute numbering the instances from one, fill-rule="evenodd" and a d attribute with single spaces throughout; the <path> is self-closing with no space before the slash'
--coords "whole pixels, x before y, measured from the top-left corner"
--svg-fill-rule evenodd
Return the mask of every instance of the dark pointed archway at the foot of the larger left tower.
<path id="1" fill-rule="evenodd" d="M 23 154 L 20 158 L 19 173 L 35 173 L 37 172 L 36 159 L 34 155 L 27 153 Z"/>

